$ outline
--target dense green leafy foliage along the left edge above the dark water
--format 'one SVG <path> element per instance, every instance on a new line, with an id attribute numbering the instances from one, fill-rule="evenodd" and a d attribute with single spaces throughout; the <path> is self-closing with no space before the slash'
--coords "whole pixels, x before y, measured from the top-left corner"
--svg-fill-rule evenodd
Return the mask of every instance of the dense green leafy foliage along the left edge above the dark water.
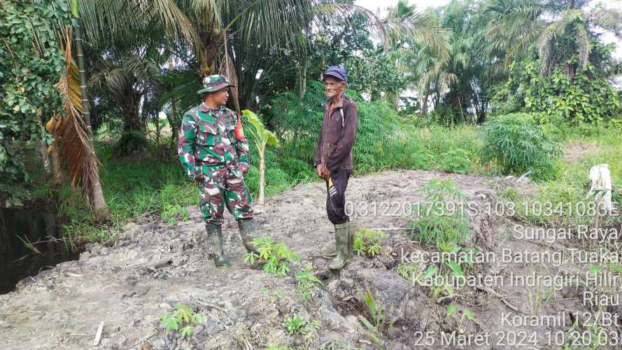
<path id="1" fill-rule="evenodd" d="M 17 143 L 50 144 L 43 127 L 62 101 L 54 84 L 64 71 L 55 26 L 69 24 L 66 0 L 9 1 L 0 10 L 0 199 L 20 204 L 29 181 Z"/>

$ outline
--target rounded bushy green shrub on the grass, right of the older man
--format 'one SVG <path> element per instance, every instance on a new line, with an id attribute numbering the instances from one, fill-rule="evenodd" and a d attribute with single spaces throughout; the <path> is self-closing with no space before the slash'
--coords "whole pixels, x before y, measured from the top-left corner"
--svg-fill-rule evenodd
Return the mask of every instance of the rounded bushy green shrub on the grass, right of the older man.
<path id="1" fill-rule="evenodd" d="M 555 177 L 556 160 L 562 154 L 560 144 L 542 131 L 532 115 L 497 116 L 484 124 L 481 134 L 482 162 L 494 162 L 504 174 L 521 176 L 530 172 L 530 177 L 537 180 Z"/>

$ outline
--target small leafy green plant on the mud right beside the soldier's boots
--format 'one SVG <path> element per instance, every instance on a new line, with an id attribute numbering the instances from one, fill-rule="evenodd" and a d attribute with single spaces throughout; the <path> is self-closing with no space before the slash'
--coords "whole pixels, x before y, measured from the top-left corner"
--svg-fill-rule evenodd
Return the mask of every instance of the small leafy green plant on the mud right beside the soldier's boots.
<path id="1" fill-rule="evenodd" d="M 294 251 L 290 251 L 283 242 L 275 243 L 270 236 L 253 239 L 253 244 L 259 249 L 260 255 L 246 253 L 244 262 L 254 264 L 256 259 L 264 259 L 264 272 L 285 276 L 290 271 L 290 261 L 299 261 L 300 257 Z"/>

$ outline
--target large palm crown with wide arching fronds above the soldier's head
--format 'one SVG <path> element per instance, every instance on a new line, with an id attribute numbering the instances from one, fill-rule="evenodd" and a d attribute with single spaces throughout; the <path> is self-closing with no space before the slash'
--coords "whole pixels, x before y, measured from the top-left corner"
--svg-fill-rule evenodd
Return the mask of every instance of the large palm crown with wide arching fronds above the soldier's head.
<path id="1" fill-rule="evenodd" d="M 190 48 L 197 62 L 198 78 L 220 71 L 229 80 L 237 80 L 236 66 L 252 71 L 269 69 L 274 62 L 239 62 L 239 56 L 264 59 L 266 55 L 242 55 L 225 45 L 227 36 L 234 37 L 244 50 L 271 54 L 274 48 L 289 52 L 299 62 L 299 85 L 304 86 L 308 67 L 306 48 L 313 21 L 346 16 L 353 11 L 371 19 L 376 34 L 385 47 L 403 36 L 425 41 L 436 52 L 446 52 L 444 30 L 433 18 L 414 11 L 400 20 L 381 20 L 371 11 L 352 3 L 327 0 L 91 0 L 83 1 L 85 32 L 91 43 L 129 41 L 136 43 L 145 31 L 162 31 L 169 43 Z M 240 52 L 240 50 L 237 50 Z M 217 67 L 220 66 L 220 69 Z M 304 92 L 302 87 L 301 92 Z M 237 90 L 234 89 L 237 102 Z M 252 96 L 245 92 L 245 96 Z"/>

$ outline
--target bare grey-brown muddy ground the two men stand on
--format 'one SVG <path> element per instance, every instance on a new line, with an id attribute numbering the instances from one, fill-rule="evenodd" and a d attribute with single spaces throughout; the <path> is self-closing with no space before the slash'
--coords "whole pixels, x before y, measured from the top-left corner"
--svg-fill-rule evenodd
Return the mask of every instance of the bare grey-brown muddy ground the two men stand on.
<path id="1" fill-rule="evenodd" d="M 446 178 L 458 184 L 467 201 L 482 206 L 494 206 L 495 190 L 504 186 L 530 187 L 516 179 L 424 171 L 382 172 L 351 179 L 348 201 L 360 214 L 363 203 L 368 208 L 367 215 L 358 218 L 358 227 L 382 228 L 388 237 L 376 258 L 356 256 L 344 269 L 332 272 L 327 260 L 320 258 L 322 251 L 334 246 L 332 225 L 325 216 L 325 185 L 297 186 L 269 198 L 257 209 L 260 232 L 285 242 L 301 257 L 283 277 L 244 264 L 246 251 L 228 213 L 223 234 L 225 252 L 233 262 L 229 269 L 215 269 L 208 258 L 204 225 L 195 207 L 188 208 L 189 221 L 174 225 L 157 219 L 130 223 L 113 246 L 87 246 L 80 260 L 57 265 L 21 281 L 18 291 L 0 295 L 0 348 L 90 348 L 103 322 L 99 349 L 265 349 L 275 343 L 292 349 L 374 349 L 359 319 L 371 318 L 362 302 L 362 292 L 369 288 L 385 318 L 395 321 L 393 330 L 383 334 L 393 341 L 393 349 L 456 349 L 459 344 L 446 341 L 451 332 L 490 337 L 485 344 L 469 349 L 558 349 L 560 346 L 550 344 L 549 335 L 565 334 L 572 314 L 586 311 L 579 290 L 462 288 L 447 297 L 446 293 L 433 295 L 433 288 L 418 286 L 393 271 L 404 253 L 435 248 L 409 240 L 410 232 L 403 228 L 411 217 L 388 214 L 421 201 L 418 188 L 430 179 Z M 392 205 L 388 212 L 383 212 L 382 202 Z M 514 218 L 493 214 L 481 211 L 469 216 L 467 245 L 493 252 L 565 248 L 564 242 L 514 239 Z M 324 285 L 311 300 L 303 301 L 294 274 L 309 263 Z M 537 271 L 555 276 L 581 268 L 495 262 L 476 264 L 469 274 L 508 278 Z M 283 292 L 282 297 L 275 292 Z M 158 320 L 179 302 L 205 318 L 188 338 L 167 334 Z M 453 317 L 447 315 L 448 304 L 458 308 Z M 472 311 L 474 321 L 464 317 L 465 309 Z M 294 314 L 318 321 L 318 329 L 306 337 L 288 335 L 282 323 Z M 503 314 L 560 315 L 566 324 L 507 325 L 502 322 Z M 510 344 L 508 334 L 518 339 Z"/>

